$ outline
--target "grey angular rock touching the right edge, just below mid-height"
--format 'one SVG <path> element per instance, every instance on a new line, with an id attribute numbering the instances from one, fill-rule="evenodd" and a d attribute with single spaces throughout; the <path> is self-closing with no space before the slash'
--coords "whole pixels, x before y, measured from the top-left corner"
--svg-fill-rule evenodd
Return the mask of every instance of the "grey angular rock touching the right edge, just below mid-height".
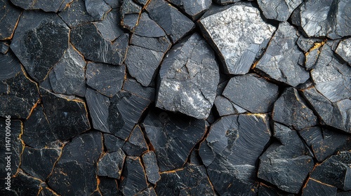
<path id="1" fill-rule="evenodd" d="M 350 99 L 343 99 L 342 101 L 333 103 L 320 94 L 314 87 L 307 88 L 302 92 L 303 96 L 310 102 L 326 125 L 336 127 L 345 132 L 351 132 Z"/>

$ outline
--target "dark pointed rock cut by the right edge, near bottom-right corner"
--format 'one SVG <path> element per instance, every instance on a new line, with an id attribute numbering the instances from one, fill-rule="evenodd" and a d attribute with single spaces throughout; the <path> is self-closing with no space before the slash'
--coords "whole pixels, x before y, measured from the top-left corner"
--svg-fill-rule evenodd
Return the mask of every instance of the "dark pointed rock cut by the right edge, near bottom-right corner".
<path id="1" fill-rule="evenodd" d="M 317 165 L 310 178 L 321 183 L 336 186 L 340 190 L 351 190 L 350 181 L 351 152 L 341 151 Z"/>

